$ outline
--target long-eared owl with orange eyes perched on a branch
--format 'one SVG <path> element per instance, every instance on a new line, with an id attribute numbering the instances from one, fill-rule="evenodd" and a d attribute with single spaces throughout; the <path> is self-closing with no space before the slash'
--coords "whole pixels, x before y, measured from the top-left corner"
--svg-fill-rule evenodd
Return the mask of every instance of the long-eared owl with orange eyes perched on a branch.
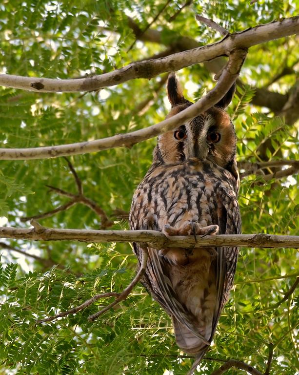
<path id="1" fill-rule="evenodd" d="M 159 230 L 166 236 L 239 234 L 239 173 L 236 134 L 224 108 L 235 85 L 193 120 L 158 137 L 153 163 L 137 187 L 130 211 L 131 229 Z M 167 81 L 174 116 L 192 103 L 182 94 L 176 74 Z M 238 248 L 155 249 L 142 284 L 171 316 L 179 348 L 201 359 L 213 339 L 233 286 Z"/>

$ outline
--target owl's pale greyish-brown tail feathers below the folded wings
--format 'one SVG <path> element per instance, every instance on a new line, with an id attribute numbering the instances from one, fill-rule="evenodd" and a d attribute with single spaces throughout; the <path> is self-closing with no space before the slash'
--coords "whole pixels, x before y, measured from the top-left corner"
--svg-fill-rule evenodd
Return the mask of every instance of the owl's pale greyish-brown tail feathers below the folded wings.
<path id="1" fill-rule="evenodd" d="M 209 345 L 207 345 L 207 340 L 204 337 L 200 338 L 200 333 L 196 335 L 195 333 L 190 331 L 174 316 L 172 320 L 176 335 L 176 341 L 179 348 L 188 354 L 196 354 L 196 357 L 198 357 L 198 355 L 201 355 L 202 357 L 206 350 L 209 348 Z"/>

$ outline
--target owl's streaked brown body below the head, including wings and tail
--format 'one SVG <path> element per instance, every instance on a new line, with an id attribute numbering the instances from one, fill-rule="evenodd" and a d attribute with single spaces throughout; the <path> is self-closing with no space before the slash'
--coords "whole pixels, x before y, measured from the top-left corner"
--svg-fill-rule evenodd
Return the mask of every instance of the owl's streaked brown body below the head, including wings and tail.
<path id="1" fill-rule="evenodd" d="M 135 191 L 131 229 L 218 225 L 220 234 L 240 232 L 236 180 L 212 162 L 153 164 Z M 134 244 L 140 260 L 140 247 Z M 189 353 L 204 353 L 233 284 L 238 249 L 148 248 L 144 286 L 172 316 L 176 340 Z M 166 254 L 166 255 L 165 255 Z"/>

